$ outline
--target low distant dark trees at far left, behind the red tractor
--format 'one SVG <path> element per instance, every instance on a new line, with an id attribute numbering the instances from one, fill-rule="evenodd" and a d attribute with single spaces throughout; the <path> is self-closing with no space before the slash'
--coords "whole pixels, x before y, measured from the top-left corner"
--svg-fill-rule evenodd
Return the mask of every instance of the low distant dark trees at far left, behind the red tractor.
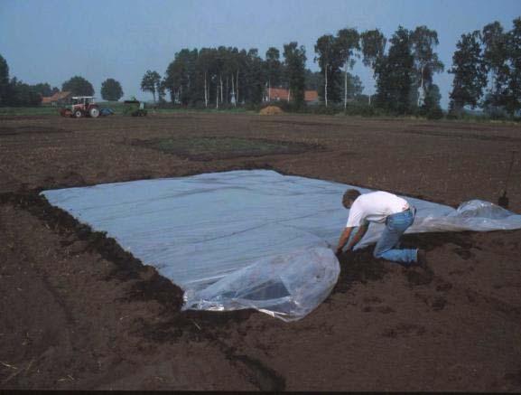
<path id="1" fill-rule="evenodd" d="M 75 76 L 63 82 L 61 90 L 72 92 L 76 96 L 93 96 L 92 84 L 83 77 Z M 57 87 L 51 88 L 48 83 L 29 85 L 16 77 L 9 78 L 9 66 L 0 55 L 0 107 L 2 106 L 37 106 L 42 98 L 59 92 Z M 107 79 L 101 84 L 101 97 L 105 100 L 119 100 L 123 97 L 121 84 L 114 79 Z"/>

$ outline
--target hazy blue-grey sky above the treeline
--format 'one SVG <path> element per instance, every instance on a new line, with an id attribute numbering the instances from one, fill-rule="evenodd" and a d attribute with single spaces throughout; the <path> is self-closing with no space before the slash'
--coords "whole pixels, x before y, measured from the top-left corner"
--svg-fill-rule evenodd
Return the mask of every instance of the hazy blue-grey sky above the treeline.
<path id="1" fill-rule="evenodd" d="M 318 70 L 314 43 L 345 27 L 379 28 L 387 38 L 398 25 L 427 25 L 438 32 L 438 53 L 451 67 L 462 33 L 499 21 L 509 30 L 521 16 L 521 0 L 0 0 L 0 54 L 10 76 L 33 84 L 61 83 L 74 75 L 89 80 L 99 97 L 101 82 L 119 80 L 125 98 L 152 99 L 139 89 L 144 71 L 163 75 L 181 48 L 236 46 L 283 50 L 296 41 L 307 66 Z M 361 61 L 353 71 L 365 93 L 372 72 Z M 451 75 L 434 81 L 448 103 Z"/>

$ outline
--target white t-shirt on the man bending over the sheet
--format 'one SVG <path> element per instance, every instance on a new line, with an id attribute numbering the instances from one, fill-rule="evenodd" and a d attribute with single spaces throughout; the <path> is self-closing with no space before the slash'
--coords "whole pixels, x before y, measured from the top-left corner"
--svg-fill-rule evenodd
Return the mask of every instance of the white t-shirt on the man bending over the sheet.
<path id="1" fill-rule="evenodd" d="M 378 191 L 358 196 L 349 209 L 346 228 L 360 226 L 367 221 L 385 222 L 387 216 L 403 212 L 409 203 L 393 193 Z"/>

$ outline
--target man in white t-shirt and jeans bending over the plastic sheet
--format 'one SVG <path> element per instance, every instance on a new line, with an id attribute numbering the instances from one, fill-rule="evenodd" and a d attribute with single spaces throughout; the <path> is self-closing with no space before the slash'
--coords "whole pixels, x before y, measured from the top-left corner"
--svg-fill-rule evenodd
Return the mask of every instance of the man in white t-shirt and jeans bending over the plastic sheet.
<path id="1" fill-rule="evenodd" d="M 348 244 L 347 250 L 357 245 L 367 232 L 369 222 L 385 223 L 373 255 L 375 258 L 400 262 L 405 266 L 425 263 L 423 249 L 398 249 L 400 237 L 414 222 L 416 210 L 405 199 L 383 191 L 360 194 L 356 189 L 344 193 L 342 204 L 349 210 L 346 229 L 340 235 L 337 255 Z M 358 228 L 351 235 L 354 228 Z"/>

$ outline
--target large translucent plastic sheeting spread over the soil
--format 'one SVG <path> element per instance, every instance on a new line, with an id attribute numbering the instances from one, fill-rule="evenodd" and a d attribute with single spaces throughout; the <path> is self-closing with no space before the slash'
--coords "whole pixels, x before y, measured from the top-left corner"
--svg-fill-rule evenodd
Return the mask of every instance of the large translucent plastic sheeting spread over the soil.
<path id="1" fill-rule="evenodd" d="M 309 314 L 337 281 L 331 248 L 347 221 L 341 197 L 349 187 L 256 170 L 42 194 L 182 287 L 183 308 L 251 307 L 291 321 Z M 454 210 L 405 199 L 417 209 L 407 232 L 521 228 L 520 215 L 489 202 Z M 371 224 L 358 248 L 382 230 Z"/>

